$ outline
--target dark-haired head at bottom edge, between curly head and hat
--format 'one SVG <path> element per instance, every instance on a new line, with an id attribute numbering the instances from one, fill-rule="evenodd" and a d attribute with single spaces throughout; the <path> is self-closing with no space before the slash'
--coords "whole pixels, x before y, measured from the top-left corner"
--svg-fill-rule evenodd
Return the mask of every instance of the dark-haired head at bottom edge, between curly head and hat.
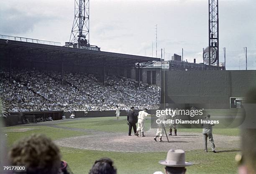
<path id="1" fill-rule="evenodd" d="M 96 160 L 90 169 L 89 174 L 116 174 L 117 169 L 113 166 L 113 161 L 109 158 Z"/>

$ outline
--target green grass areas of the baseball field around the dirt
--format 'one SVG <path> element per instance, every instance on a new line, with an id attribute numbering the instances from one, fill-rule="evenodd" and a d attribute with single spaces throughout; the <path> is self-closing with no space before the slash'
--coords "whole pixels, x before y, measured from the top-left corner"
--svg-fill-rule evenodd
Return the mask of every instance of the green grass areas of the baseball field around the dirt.
<path id="1" fill-rule="evenodd" d="M 99 122 L 100 121 L 100 122 Z M 125 125 L 126 117 L 120 117 L 119 121 L 115 117 L 89 118 L 82 120 L 68 121 L 56 126 L 69 128 L 90 129 L 106 132 L 127 132 Z M 33 128 L 29 131 L 12 131 L 13 129 Z M 150 128 L 150 120 L 146 120 L 146 128 Z M 53 140 L 72 136 L 85 135 L 86 131 L 74 131 L 49 126 L 13 126 L 7 127 L 5 134 L 8 134 L 8 146 L 10 147 L 17 139 L 28 136 L 32 133 L 44 133 Z M 202 129 L 179 129 L 183 132 L 201 133 Z M 239 136 L 238 129 L 214 129 L 214 134 Z M 128 146 L 129 144 L 127 144 Z M 147 148 L 147 147 L 145 147 Z M 164 171 L 164 167 L 158 164 L 159 160 L 166 158 L 166 152 L 113 152 L 97 150 L 81 150 L 75 148 L 60 147 L 62 159 L 69 163 L 74 174 L 87 174 L 93 162 L 101 157 L 113 159 L 118 174 L 153 174 L 154 171 Z M 234 160 L 239 149 L 229 149 L 228 147 L 218 149 L 220 153 L 204 153 L 202 149 L 186 152 L 186 161 L 194 163 L 187 167 L 188 174 L 236 174 L 237 167 Z M 130 171 L 131 168 L 133 171 Z"/>

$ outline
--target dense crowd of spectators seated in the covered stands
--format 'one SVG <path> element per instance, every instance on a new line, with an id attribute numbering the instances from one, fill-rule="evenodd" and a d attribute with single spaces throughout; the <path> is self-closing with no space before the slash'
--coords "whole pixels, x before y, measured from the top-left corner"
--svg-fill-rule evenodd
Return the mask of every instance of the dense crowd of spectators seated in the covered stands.
<path id="1" fill-rule="evenodd" d="M 160 88 L 138 84 L 127 78 L 107 76 L 105 86 L 99 77 L 85 73 L 56 71 L 12 70 L 0 72 L 0 97 L 4 111 L 107 111 L 116 105 L 121 110 L 135 108 L 156 109 Z"/>

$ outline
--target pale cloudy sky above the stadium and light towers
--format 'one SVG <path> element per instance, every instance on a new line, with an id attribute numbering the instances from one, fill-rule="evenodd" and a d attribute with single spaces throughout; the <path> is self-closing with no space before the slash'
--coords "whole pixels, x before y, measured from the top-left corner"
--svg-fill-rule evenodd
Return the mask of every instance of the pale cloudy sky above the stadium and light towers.
<path id="1" fill-rule="evenodd" d="M 74 0 L 2 0 L 0 35 L 69 41 Z M 90 44 L 102 51 L 202 62 L 208 45 L 208 0 L 90 0 Z M 219 0 L 220 62 L 256 69 L 256 0 Z M 153 54 L 152 54 L 153 44 Z"/>

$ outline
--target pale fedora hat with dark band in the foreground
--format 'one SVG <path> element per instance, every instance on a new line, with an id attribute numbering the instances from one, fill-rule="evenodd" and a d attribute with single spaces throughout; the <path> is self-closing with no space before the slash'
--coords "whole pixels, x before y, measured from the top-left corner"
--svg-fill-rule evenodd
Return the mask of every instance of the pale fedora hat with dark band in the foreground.
<path id="1" fill-rule="evenodd" d="M 193 165 L 193 163 L 185 161 L 185 151 L 181 149 L 170 149 L 167 153 L 166 160 L 159 161 L 159 164 L 169 167 L 185 167 Z"/>

